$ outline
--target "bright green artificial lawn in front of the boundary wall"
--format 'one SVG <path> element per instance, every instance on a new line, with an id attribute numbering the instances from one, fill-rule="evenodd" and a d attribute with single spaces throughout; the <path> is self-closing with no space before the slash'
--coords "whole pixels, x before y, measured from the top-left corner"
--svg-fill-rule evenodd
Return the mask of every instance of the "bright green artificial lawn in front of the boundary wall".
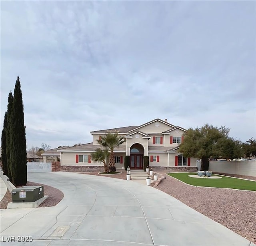
<path id="1" fill-rule="evenodd" d="M 195 172 L 179 172 L 179 173 L 168 173 L 168 175 L 181 180 L 186 184 L 191 184 L 194 186 L 206 186 L 206 187 L 216 187 L 216 188 L 232 188 L 239 190 L 254 190 L 256 191 L 256 181 L 243 180 L 239 178 L 225 177 L 221 175 L 219 179 L 208 179 L 208 178 L 192 178 L 188 175 L 195 175 Z"/>

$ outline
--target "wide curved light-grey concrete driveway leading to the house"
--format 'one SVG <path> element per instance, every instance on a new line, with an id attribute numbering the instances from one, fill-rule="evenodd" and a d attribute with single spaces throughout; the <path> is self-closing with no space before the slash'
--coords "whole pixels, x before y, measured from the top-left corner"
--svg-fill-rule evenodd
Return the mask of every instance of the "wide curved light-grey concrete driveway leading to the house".
<path id="1" fill-rule="evenodd" d="M 1 210 L 1 241 L 16 240 L 1 245 L 250 245 L 143 184 L 70 172 L 29 173 L 28 180 L 56 187 L 64 198 L 55 207 Z M 17 244 L 18 236 L 33 242 Z"/>

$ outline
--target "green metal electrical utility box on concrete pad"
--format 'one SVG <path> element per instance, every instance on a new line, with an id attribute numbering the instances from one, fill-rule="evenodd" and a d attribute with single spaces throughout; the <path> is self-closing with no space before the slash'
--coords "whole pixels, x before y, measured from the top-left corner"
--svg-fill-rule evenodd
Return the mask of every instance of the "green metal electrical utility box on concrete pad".
<path id="1" fill-rule="evenodd" d="M 12 202 L 35 202 L 44 197 L 44 186 L 22 186 L 12 190 Z"/>

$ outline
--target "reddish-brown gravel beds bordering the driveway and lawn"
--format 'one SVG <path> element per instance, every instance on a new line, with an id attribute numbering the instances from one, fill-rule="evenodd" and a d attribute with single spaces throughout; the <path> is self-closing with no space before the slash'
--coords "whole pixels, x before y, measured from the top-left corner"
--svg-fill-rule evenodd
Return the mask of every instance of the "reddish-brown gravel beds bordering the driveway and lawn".
<path id="1" fill-rule="evenodd" d="M 108 176 L 126 180 L 126 172 L 110 175 L 92 172 L 86 172 L 84 174 Z M 164 175 L 166 179 L 163 179 L 163 181 L 156 186 L 158 190 L 166 192 L 201 214 L 208 216 L 212 220 L 240 234 L 249 241 L 256 242 L 256 192 L 194 187 L 184 184 L 164 174 L 164 172 L 162 172 L 162 175 Z M 256 177 L 238 177 L 256 180 Z M 28 182 L 27 185 L 42 184 Z M 154 183 L 152 183 L 151 186 L 154 186 Z M 63 198 L 63 193 L 60 190 L 46 185 L 44 185 L 44 194 L 48 195 L 49 198 L 47 198 L 40 207 L 55 206 Z M 8 202 L 11 201 L 11 194 L 6 192 L 6 195 L 0 202 L 0 208 L 6 208 Z"/>

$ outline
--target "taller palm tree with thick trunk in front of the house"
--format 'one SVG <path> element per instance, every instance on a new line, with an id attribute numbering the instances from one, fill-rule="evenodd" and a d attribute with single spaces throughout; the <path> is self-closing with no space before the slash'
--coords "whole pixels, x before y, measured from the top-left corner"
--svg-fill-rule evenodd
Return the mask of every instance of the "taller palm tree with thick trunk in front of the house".
<path id="1" fill-rule="evenodd" d="M 118 132 L 108 132 L 106 136 L 102 136 L 97 141 L 110 150 L 108 166 L 111 172 L 116 172 L 114 149 L 119 148 L 120 144 L 125 142 L 124 136 L 119 135 Z"/>

